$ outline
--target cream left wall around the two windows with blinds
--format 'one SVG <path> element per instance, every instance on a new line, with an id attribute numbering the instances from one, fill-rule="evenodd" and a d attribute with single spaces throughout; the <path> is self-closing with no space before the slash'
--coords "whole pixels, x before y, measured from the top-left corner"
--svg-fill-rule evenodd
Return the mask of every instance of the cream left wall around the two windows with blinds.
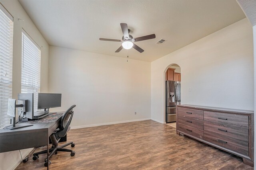
<path id="1" fill-rule="evenodd" d="M 12 65 L 12 98 L 17 99 L 18 93 L 21 92 L 21 44 L 22 28 L 41 46 L 41 82 L 40 91 L 48 91 L 48 55 L 49 46 L 44 37 L 38 31 L 34 23 L 30 20 L 25 10 L 16 0 L 2 0 L 3 6 L 14 17 L 14 35 L 13 35 L 13 65 Z M 22 19 L 18 21 L 18 18 Z M 27 156 L 31 149 L 21 150 L 23 158 Z M 21 162 L 20 152 L 0 153 L 0 170 L 12 170 Z"/>

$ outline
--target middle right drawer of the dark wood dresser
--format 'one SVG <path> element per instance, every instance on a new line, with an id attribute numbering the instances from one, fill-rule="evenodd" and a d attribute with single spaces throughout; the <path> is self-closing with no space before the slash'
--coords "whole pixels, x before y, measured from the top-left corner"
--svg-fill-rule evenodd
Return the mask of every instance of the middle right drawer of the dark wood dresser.
<path id="1" fill-rule="evenodd" d="M 204 121 L 204 130 L 244 142 L 249 141 L 249 130 L 240 127 Z"/>

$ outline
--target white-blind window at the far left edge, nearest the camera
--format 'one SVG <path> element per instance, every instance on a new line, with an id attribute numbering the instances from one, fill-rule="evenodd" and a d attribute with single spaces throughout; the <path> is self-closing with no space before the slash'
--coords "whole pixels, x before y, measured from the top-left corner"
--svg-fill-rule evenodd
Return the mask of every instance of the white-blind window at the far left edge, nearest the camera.
<path id="1" fill-rule="evenodd" d="M 0 128 L 10 123 L 8 98 L 12 98 L 13 17 L 0 4 Z"/>

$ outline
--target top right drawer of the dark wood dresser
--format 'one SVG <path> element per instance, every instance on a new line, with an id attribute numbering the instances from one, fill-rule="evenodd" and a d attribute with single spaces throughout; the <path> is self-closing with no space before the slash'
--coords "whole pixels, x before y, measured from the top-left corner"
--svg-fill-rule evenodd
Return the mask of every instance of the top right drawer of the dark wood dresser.
<path id="1" fill-rule="evenodd" d="M 204 120 L 249 129 L 249 117 L 245 115 L 204 111 Z"/>

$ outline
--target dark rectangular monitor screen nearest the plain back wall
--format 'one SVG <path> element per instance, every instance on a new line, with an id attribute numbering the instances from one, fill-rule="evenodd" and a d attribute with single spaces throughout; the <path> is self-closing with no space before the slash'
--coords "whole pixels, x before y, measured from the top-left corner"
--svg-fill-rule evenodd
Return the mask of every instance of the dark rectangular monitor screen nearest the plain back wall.
<path id="1" fill-rule="evenodd" d="M 38 93 L 38 109 L 47 109 L 61 106 L 61 94 Z"/>

